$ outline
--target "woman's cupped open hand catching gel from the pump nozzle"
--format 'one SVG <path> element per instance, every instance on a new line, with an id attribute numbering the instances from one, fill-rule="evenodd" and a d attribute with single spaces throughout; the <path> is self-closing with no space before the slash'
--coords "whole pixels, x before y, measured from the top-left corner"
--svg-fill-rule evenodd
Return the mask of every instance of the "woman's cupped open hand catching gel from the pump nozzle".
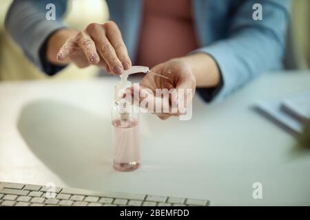
<path id="1" fill-rule="evenodd" d="M 148 98 L 149 100 L 149 96 L 151 96 L 151 100 L 154 100 L 153 107 L 156 109 L 156 104 L 164 103 L 162 94 L 159 94 L 159 96 L 158 94 L 156 95 L 156 89 L 167 89 L 168 91 L 173 91 L 170 89 L 175 89 L 177 96 L 174 93 L 172 93 L 174 95 L 169 94 L 169 96 L 166 96 L 167 98 L 169 97 L 169 112 L 165 113 L 162 111 L 156 113 L 155 111 L 154 113 L 156 113 L 156 115 L 162 120 L 166 120 L 172 115 L 178 116 L 181 113 L 185 113 L 184 111 L 187 104 L 189 104 L 187 101 L 192 101 L 196 88 L 196 79 L 192 73 L 190 65 L 188 65 L 187 62 L 176 58 L 156 65 L 151 71 L 167 78 L 156 76 L 152 73 L 146 74 L 140 82 L 139 89 L 142 96 L 139 96 L 139 103 L 141 104 L 145 98 Z M 188 93 L 188 91 L 192 92 Z M 158 102 L 158 100 L 160 102 Z M 180 107 L 180 103 L 184 103 L 185 106 Z M 177 107 L 177 109 L 174 109 L 176 111 L 173 110 L 173 107 Z M 163 106 L 161 106 L 160 109 L 163 110 Z"/>

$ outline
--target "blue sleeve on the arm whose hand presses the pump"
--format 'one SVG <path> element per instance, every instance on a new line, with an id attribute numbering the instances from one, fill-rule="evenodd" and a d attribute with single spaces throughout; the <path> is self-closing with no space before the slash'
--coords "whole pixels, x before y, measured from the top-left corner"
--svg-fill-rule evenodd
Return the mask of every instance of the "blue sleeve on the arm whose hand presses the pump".
<path id="1" fill-rule="evenodd" d="M 55 20 L 48 20 L 46 5 L 55 5 Z M 52 75 L 63 67 L 45 61 L 45 47 L 49 36 L 65 28 L 62 17 L 67 9 L 66 0 L 14 0 L 6 14 L 6 30 L 22 48 L 25 55 L 46 74 Z"/>

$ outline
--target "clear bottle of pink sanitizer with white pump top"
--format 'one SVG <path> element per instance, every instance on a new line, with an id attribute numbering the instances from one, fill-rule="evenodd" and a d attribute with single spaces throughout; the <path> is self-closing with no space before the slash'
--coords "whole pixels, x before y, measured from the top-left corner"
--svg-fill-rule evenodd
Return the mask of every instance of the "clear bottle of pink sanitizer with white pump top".
<path id="1" fill-rule="evenodd" d="M 121 74 L 121 81 L 115 85 L 112 104 L 112 144 L 114 148 L 113 167 L 120 171 L 136 170 L 140 166 L 139 115 L 134 105 L 127 102 L 122 89 L 132 85 L 127 80 L 130 74 L 149 72 L 148 67 L 134 66 Z"/>

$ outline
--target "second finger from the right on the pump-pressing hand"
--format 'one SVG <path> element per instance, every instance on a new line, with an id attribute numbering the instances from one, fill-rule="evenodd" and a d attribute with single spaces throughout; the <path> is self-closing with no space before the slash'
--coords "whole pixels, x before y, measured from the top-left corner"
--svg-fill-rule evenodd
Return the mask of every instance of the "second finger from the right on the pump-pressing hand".
<path id="1" fill-rule="evenodd" d="M 123 72 L 123 65 L 116 56 L 116 52 L 112 47 L 110 41 L 105 36 L 105 31 L 102 28 L 97 28 L 93 30 L 90 34 L 96 44 L 99 54 L 105 60 L 109 68 L 116 76 L 120 75 Z"/>

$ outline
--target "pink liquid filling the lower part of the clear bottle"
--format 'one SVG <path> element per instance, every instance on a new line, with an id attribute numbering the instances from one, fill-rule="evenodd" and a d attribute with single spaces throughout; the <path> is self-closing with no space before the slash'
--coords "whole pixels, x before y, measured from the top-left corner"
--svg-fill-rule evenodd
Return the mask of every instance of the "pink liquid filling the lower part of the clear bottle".
<path id="1" fill-rule="evenodd" d="M 114 168 L 132 171 L 140 166 L 140 143 L 138 120 L 112 121 Z"/>

